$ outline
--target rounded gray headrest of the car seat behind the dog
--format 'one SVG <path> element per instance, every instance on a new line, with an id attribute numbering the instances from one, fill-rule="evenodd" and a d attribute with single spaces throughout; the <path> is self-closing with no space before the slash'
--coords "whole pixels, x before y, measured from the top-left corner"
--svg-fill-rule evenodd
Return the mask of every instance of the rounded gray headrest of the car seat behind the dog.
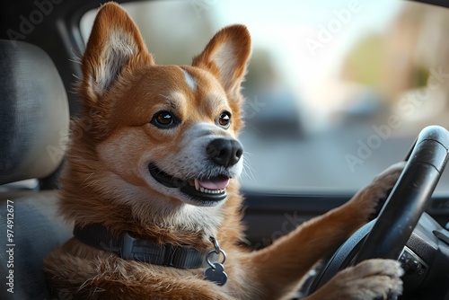
<path id="1" fill-rule="evenodd" d="M 62 162 L 67 95 L 40 48 L 0 40 L 0 184 L 44 178 Z"/>

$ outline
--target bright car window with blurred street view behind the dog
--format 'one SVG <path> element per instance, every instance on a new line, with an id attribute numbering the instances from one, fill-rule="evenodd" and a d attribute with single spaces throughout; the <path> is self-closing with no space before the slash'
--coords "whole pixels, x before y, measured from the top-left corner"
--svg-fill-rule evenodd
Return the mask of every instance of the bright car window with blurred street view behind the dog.
<path id="1" fill-rule="evenodd" d="M 408 1 L 151 1 L 123 4 L 158 64 L 189 64 L 243 23 L 242 186 L 355 191 L 405 157 L 420 129 L 449 126 L 447 9 Z M 88 39 L 96 11 L 81 22 Z M 449 190 L 444 175 L 438 190 Z"/>

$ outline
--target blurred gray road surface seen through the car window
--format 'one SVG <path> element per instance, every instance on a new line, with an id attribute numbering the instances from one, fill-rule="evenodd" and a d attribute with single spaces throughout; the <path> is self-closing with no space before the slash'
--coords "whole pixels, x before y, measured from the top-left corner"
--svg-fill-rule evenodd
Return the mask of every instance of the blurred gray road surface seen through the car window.
<path id="1" fill-rule="evenodd" d="M 359 190 L 389 165 L 403 160 L 416 138 L 383 139 L 362 123 L 298 138 L 243 132 L 243 187 L 270 191 Z M 449 170 L 436 191 L 449 191 Z"/>

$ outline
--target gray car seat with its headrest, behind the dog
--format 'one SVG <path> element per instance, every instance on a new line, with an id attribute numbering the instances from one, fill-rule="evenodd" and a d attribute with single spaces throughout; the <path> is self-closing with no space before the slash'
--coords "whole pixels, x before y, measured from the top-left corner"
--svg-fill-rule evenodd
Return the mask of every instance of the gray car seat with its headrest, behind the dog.
<path id="1" fill-rule="evenodd" d="M 31 44 L 0 40 L 0 69 L 0 184 L 47 177 L 63 159 L 60 141 L 69 119 L 57 68 Z M 72 236 L 72 228 L 57 216 L 57 190 L 0 186 L 0 299 L 54 299 L 48 294 L 42 260 Z M 12 230 L 11 241 L 7 229 Z M 10 243 L 13 266 L 6 252 Z M 5 285 L 11 270 L 13 294 Z"/>

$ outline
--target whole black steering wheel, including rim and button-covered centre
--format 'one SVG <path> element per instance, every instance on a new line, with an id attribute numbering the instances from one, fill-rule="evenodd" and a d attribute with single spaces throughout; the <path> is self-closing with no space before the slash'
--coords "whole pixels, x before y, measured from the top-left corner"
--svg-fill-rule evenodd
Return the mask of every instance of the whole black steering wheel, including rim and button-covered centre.
<path id="1" fill-rule="evenodd" d="M 448 149 L 449 132 L 445 128 L 430 126 L 419 133 L 406 157 L 405 168 L 377 218 L 340 246 L 313 278 L 305 296 L 323 286 L 340 269 L 374 258 L 401 261 L 406 274 L 411 275 L 408 281 L 403 278 L 404 293 L 414 293 L 426 281 L 432 273 L 430 264 L 439 255 L 436 250 L 440 239 L 446 243 L 442 246 L 444 250 L 449 250 L 447 231 L 424 213 L 445 169 Z M 437 260 L 449 264 L 448 259 L 449 255 L 444 255 Z"/>

